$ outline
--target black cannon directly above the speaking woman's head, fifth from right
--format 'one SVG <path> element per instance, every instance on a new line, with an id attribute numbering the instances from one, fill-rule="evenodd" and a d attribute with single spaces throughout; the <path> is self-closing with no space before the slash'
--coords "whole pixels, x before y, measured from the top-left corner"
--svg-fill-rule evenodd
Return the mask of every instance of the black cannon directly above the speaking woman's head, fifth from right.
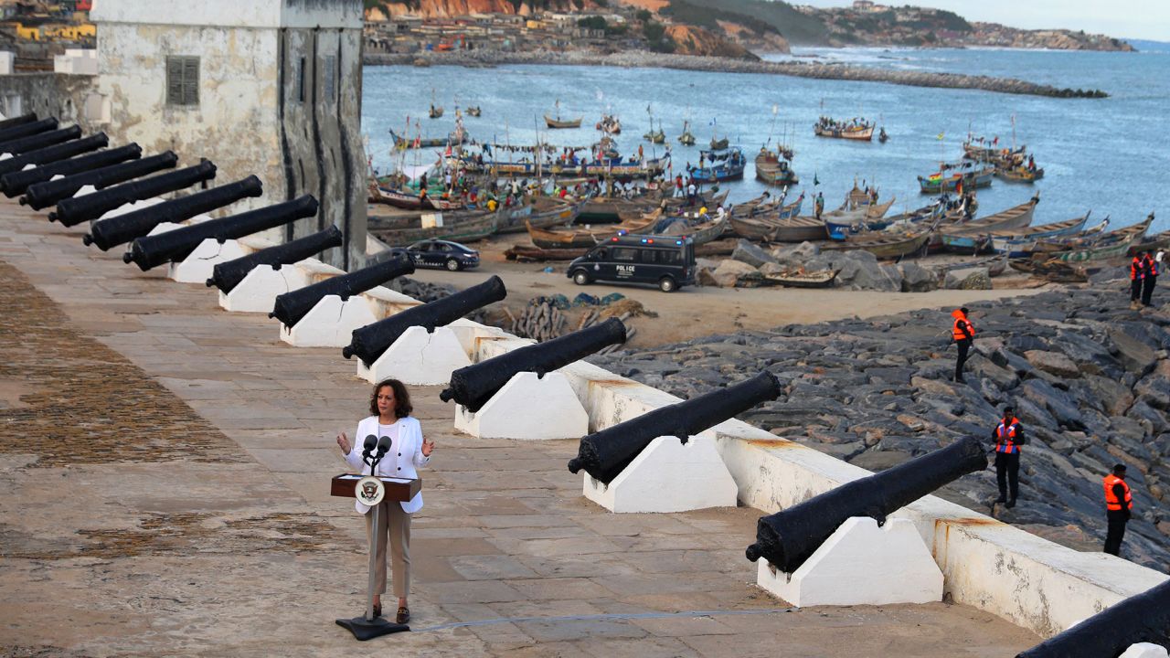
<path id="1" fill-rule="evenodd" d="M 422 327 L 428 334 L 434 334 L 435 327 L 446 327 L 473 310 L 507 296 L 504 282 L 498 276 L 493 276 L 479 286 L 355 329 L 350 344 L 342 348 L 342 356 L 350 358 L 357 355 L 363 363 L 370 365 L 411 327 Z"/>

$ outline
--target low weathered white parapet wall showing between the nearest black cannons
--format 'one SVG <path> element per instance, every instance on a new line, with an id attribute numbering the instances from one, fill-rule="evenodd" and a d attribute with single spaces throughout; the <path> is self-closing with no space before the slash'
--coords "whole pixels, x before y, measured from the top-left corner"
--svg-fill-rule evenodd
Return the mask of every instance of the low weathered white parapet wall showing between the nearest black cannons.
<path id="1" fill-rule="evenodd" d="M 475 345 L 475 361 L 526 344 L 514 337 L 482 337 Z M 583 400 L 594 431 L 680 402 L 585 362 L 562 371 Z M 739 487 L 739 500 L 766 514 L 872 474 L 739 420 L 714 430 Z M 1046 637 L 1170 578 L 1112 555 L 1065 548 L 935 496 L 894 516 L 914 521 L 943 571 L 945 591 L 956 602 Z M 743 537 L 745 548 L 753 541 L 755 536 Z"/>

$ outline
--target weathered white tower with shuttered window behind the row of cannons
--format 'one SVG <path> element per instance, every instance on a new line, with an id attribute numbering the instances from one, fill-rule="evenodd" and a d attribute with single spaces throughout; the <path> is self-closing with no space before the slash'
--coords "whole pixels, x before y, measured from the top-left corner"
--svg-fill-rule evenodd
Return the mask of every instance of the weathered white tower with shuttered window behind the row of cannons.
<path id="1" fill-rule="evenodd" d="M 336 225 L 325 260 L 364 262 L 362 0 L 103 0 L 91 19 L 111 143 L 207 158 L 218 184 L 255 173 L 264 196 L 233 212 L 312 194 L 283 238 Z"/>

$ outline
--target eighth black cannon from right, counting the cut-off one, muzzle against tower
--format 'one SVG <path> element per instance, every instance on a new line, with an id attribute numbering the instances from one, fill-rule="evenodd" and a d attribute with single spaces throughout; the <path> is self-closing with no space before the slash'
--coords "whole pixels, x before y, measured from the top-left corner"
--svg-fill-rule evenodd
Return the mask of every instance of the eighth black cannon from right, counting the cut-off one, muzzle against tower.
<path id="1" fill-rule="evenodd" d="M 176 228 L 174 231 L 167 231 L 158 235 L 138 238 L 130 246 L 130 251 L 122 256 L 122 260 L 125 262 L 133 261 L 139 269 L 146 272 L 164 262 L 180 261 L 187 258 L 191 255 L 191 252 L 195 251 L 195 247 L 200 242 L 208 238 L 214 238 L 222 244 L 225 240 L 243 238 L 245 235 L 252 235 L 253 233 L 275 228 L 315 214 L 317 214 L 317 199 L 312 194 L 305 194 L 283 204 L 256 208 L 222 219 L 201 221 L 193 226 L 184 226 L 183 228 Z M 113 221 L 113 219 L 105 221 Z M 105 221 L 98 225 L 105 224 Z"/>

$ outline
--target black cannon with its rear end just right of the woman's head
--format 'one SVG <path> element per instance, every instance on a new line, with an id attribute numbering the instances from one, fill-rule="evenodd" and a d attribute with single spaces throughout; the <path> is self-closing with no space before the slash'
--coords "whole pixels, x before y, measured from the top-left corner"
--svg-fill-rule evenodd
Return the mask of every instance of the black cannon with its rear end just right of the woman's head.
<path id="1" fill-rule="evenodd" d="M 439 399 L 455 400 L 468 411 L 476 412 L 518 372 L 536 372 L 543 378 L 546 372 L 585 358 L 604 347 L 625 342 L 626 325 L 611 317 L 587 329 L 460 368 L 450 373 L 450 384 L 439 393 Z"/>

